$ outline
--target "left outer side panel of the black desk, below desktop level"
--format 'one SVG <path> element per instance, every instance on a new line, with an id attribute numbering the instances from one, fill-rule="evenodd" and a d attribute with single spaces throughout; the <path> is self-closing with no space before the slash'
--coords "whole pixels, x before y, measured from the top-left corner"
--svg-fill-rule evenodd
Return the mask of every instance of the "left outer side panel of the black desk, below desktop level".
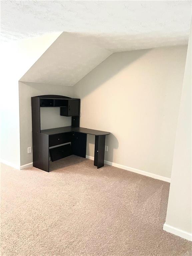
<path id="1" fill-rule="evenodd" d="M 33 132 L 33 166 L 49 172 L 49 135 Z"/>

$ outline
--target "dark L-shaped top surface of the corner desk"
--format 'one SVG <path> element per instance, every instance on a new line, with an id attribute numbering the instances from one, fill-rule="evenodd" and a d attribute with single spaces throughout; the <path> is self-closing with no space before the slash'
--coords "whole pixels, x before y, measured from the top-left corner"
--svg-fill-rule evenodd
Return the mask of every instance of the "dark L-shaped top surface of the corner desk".
<path id="1" fill-rule="evenodd" d="M 92 134 L 92 135 L 108 135 L 108 134 L 110 134 L 110 132 L 98 131 L 98 130 L 83 128 L 83 127 L 73 127 L 73 126 L 65 126 L 65 127 L 41 130 L 41 133 L 48 134 L 48 135 L 65 133 L 65 132 L 80 132 L 80 133 L 86 133 L 86 134 Z"/>

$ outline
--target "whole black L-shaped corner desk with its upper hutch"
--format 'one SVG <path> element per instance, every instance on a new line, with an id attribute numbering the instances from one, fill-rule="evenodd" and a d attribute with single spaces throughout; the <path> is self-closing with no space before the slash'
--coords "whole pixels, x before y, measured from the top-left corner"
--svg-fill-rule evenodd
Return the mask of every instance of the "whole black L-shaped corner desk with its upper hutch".
<path id="1" fill-rule="evenodd" d="M 79 127 L 80 99 L 61 95 L 41 95 L 31 98 L 33 166 L 49 172 L 49 153 L 52 161 L 76 155 L 86 157 L 87 134 L 95 135 L 94 165 L 104 166 L 105 137 L 110 132 Z M 72 125 L 41 130 L 40 108 L 60 107 L 61 116 L 72 116 Z"/>

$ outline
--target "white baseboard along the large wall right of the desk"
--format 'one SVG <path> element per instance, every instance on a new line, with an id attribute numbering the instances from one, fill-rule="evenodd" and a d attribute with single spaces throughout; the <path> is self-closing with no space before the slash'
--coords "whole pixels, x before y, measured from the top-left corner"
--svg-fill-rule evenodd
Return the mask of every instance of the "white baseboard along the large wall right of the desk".
<path id="1" fill-rule="evenodd" d="M 90 159 L 90 160 L 94 160 L 93 156 L 86 155 L 86 158 Z M 169 183 L 171 182 L 170 178 L 167 178 L 167 177 L 164 177 L 164 176 L 161 176 L 161 175 L 157 175 L 157 174 L 154 174 L 154 173 L 145 172 L 145 171 L 142 171 L 142 170 L 139 170 L 139 169 L 135 169 L 135 168 L 132 168 L 132 167 L 128 167 L 128 166 L 125 166 L 125 165 L 122 165 L 122 164 L 113 163 L 113 162 L 106 161 L 106 160 L 105 160 L 104 163 L 108 164 L 108 165 L 111 165 L 111 166 L 114 166 L 114 167 L 117 167 L 117 168 L 121 168 L 121 169 L 130 171 L 130 172 L 135 172 L 135 173 L 147 176 L 147 177 L 151 177 L 153 179 L 162 180 L 162 181 L 166 181 L 166 182 L 169 182 Z"/>

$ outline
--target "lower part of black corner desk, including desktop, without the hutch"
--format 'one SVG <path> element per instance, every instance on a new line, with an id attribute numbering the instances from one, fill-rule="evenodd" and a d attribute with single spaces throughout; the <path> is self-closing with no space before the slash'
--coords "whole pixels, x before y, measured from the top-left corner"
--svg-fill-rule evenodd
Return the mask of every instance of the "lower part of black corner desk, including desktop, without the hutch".
<path id="1" fill-rule="evenodd" d="M 49 172 L 49 152 L 52 161 L 70 155 L 85 158 L 87 134 L 95 135 L 94 165 L 97 168 L 104 166 L 105 136 L 110 132 L 73 126 L 33 132 L 33 166 Z M 61 144 L 65 145 L 59 146 Z"/>

